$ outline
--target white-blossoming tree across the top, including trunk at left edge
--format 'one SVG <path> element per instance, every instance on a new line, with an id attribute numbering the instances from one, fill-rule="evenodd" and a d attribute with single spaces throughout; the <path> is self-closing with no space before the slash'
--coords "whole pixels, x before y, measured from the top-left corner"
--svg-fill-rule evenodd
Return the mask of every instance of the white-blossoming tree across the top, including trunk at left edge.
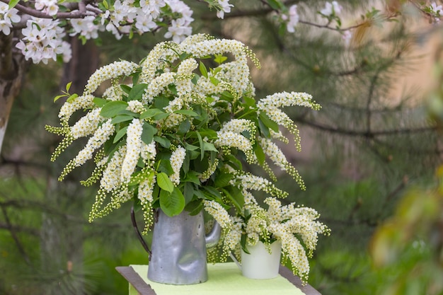
<path id="1" fill-rule="evenodd" d="M 259 1 L 259 0 L 257 0 Z M 166 39 L 180 42 L 192 34 L 193 11 L 181 0 L 0 0 L 0 151 L 13 97 L 18 95 L 25 61 L 37 64 L 59 59 L 69 62 L 71 45 L 67 37 L 82 42 L 98 40 L 108 31 L 117 40 L 123 35 L 163 32 Z M 217 18 L 241 16 L 229 0 L 195 0 L 207 4 Z M 268 13 L 282 32 L 294 33 L 299 24 L 312 25 L 343 35 L 349 43 L 352 31 L 364 25 L 392 21 L 401 16 L 401 6 L 413 6 L 431 22 L 438 22 L 442 6 L 429 1 L 387 1 L 388 13 L 373 8 L 355 23 L 344 27 L 338 1 L 325 1 L 323 8 L 309 20 L 299 16 L 299 8 L 308 4 L 292 1 L 260 0 L 261 11 Z M 401 4 L 401 5 L 400 5 Z M 393 9 L 394 8 L 394 9 Z M 233 13 L 231 13 L 233 10 Z M 251 14 L 251 12 L 248 12 Z M 215 17 L 214 16 L 214 17 Z M 306 16 L 307 17 L 307 16 Z M 311 16 L 312 18 L 312 16 Z M 23 60 L 23 57 L 25 60 Z M 11 87 L 13 85 L 13 87 Z M 5 91 L 8 90 L 8 91 Z"/>

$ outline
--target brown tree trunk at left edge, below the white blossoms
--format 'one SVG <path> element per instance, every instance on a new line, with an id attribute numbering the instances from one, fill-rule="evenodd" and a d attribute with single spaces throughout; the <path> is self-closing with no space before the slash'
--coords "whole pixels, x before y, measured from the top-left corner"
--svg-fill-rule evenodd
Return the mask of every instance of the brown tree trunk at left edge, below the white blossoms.
<path id="1" fill-rule="evenodd" d="M 20 92 L 26 62 L 22 54 L 13 54 L 13 34 L 0 32 L 0 154 L 14 98 Z"/>

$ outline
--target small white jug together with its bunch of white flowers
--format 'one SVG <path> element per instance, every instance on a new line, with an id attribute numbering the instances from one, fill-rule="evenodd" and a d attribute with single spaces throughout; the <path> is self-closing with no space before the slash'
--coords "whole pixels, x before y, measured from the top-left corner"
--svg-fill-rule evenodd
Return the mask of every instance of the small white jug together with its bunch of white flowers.
<path id="1" fill-rule="evenodd" d="M 318 235 L 329 235 L 330 229 L 317 221 L 320 214 L 294 203 L 282 206 L 275 197 L 267 197 L 263 209 L 252 195 L 241 212 L 229 214 L 212 201 L 205 201 L 207 212 L 222 225 L 222 248 L 241 267 L 243 275 L 252 279 L 270 279 L 279 272 L 282 262 L 289 260 L 292 272 L 306 284 L 309 261 L 316 249 Z M 236 253 L 236 257 L 231 253 Z M 238 255 L 240 253 L 240 255 Z M 238 263 L 241 258 L 241 265 Z"/>

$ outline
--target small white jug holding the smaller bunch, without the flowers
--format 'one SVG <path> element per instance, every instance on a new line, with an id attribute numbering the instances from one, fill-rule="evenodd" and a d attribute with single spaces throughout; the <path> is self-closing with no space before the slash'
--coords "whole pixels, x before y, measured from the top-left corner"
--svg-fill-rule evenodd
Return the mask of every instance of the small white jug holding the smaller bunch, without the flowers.
<path id="1" fill-rule="evenodd" d="M 282 243 L 275 241 L 270 244 L 271 253 L 267 252 L 265 245 L 260 241 L 253 246 L 248 245 L 247 247 L 251 254 L 241 250 L 241 264 L 234 255 L 231 255 L 232 260 L 236 262 L 243 276 L 250 279 L 272 279 L 277 277 Z"/>

